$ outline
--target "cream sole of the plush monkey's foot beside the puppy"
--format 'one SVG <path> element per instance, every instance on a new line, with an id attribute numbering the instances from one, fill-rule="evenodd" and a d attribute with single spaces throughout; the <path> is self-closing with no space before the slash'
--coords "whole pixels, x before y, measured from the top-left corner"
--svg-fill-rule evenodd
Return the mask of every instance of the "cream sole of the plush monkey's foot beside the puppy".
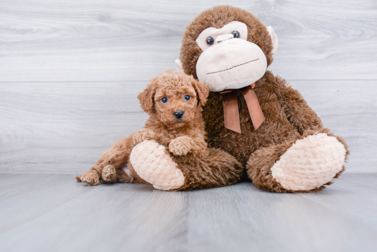
<path id="1" fill-rule="evenodd" d="M 159 190 L 175 190 L 184 184 L 184 175 L 166 148 L 153 140 L 137 144 L 130 161 L 136 173 Z"/>

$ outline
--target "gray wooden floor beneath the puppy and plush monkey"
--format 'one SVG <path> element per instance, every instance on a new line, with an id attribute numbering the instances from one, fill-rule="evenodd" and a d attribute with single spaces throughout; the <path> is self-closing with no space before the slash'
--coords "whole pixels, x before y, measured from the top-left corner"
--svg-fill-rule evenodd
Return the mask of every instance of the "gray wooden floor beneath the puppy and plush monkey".
<path id="1" fill-rule="evenodd" d="M 162 192 L 1 174 L 1 251 L 377 251 L 377 174 L 314 194 L 252 183 Z"/>

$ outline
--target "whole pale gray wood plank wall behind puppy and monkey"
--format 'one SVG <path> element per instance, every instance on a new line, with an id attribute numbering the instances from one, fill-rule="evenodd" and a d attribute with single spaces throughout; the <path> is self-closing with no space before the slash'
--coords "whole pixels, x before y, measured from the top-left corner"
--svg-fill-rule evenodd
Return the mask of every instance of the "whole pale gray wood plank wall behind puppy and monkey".
<path id="1" fill-rule="evenodd" d="M 201 11 L 231 4 L 279 37 L 269 70 L 377 172 L 377 2 L 2 0 L 0 173 L 80 173 L 144 124 L 137 94 L 174 69 Z"/>

